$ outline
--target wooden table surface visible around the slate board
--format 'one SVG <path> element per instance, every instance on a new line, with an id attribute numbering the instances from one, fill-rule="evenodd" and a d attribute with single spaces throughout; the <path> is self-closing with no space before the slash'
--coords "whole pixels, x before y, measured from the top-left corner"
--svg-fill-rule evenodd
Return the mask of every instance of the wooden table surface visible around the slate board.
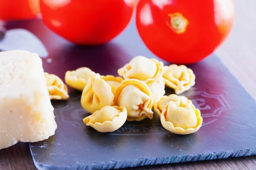
<path id="1" fill-rule="evenodd" d="M 234 0 L 236 20 L 228 39 L 215 53 L 220 60 L 235 75 L 237 80 L 256 100 L 256 10 L 255 0 Z M 150 169 L 232 169 L 248 170 L 256 168 L 256 155 L 176 163 L 158 166 L 138 167 L 137 170 Z M 28 143 L 18 143 L 12 147 L 0 150 L 1 170 L 34 170 Z M 134 168 L 133 168 L 134 169 Z"/>

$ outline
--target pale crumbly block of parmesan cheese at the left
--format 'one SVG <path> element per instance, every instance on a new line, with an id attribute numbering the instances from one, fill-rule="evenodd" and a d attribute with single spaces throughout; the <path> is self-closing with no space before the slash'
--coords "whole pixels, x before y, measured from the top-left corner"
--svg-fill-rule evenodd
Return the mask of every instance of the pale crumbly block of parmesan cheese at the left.
<path id="1" fill-rule="evenodd" d="M 38 54 L 0 52 L 0 149 L 54 135 L 53 111 Z"/>

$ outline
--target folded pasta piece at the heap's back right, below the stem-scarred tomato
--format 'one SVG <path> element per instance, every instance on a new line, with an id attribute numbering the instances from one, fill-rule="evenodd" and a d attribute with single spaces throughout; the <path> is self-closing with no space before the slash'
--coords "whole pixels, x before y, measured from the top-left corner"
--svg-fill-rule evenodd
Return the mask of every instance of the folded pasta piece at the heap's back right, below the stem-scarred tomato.
<path id="1" fill-rule="evenodd" d="M 163 79 L 165 85 L 173 88 L 176 94 L 183 93 L 195 85 L 195 74 L 192 69 L 184 65 L 163 67 Z"/>

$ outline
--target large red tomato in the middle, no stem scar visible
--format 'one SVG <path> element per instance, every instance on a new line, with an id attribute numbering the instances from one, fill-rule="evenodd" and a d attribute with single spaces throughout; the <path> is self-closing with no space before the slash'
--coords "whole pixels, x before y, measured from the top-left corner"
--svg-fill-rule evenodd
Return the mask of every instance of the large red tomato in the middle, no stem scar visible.
<path id="1" fill-rule="evenodd" d="M 44 23 L 81 45 L 103 44 L 128 25 L 136 0 L 40 0 Z"/>

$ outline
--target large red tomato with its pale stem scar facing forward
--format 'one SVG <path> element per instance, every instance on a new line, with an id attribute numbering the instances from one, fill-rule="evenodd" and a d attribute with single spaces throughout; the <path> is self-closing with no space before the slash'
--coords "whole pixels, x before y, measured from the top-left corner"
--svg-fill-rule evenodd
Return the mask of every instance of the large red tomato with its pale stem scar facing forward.
<path id="1" fill-rule="evenodd" d="M 207 57 L 225 40 L 234 13 L 232 0 L 140 0 L 136 25 L 159 58 L 189 64 Z"/>

